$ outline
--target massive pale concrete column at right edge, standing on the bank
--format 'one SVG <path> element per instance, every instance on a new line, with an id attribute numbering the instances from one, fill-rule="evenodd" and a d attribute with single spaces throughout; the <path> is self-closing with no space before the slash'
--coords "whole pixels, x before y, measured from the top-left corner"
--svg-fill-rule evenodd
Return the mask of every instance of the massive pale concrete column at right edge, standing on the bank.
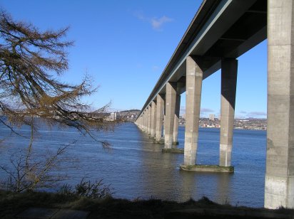
<path id="1" fill-rule="evenodd" d="M 268 0 L 265 208 L 294 208 L 294 2 Z"/>

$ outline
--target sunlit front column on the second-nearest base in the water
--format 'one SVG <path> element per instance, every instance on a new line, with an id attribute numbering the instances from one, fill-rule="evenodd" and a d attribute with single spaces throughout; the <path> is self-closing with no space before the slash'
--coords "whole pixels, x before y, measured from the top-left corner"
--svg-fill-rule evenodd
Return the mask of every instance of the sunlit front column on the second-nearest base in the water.
<path id="1" fill-rule="evenodd" d="M 171 149 L 173 144 L 173 120 L 175 119 L 176 109 L 176 85 L 166 83 L 166 118 L 164 121 L 164 147 Z"/>

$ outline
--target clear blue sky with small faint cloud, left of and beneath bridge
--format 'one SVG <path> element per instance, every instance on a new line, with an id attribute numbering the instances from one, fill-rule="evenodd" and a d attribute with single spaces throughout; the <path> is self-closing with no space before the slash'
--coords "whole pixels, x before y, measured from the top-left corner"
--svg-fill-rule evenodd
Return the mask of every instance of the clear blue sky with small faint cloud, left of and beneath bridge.
<path id="1" fill-rule="evenodd" d="M 1 0 L 18 21 L 40 30 L 70 26 L 69 70 L 61 80 L 91 75 L 94 108 L 140 109 L 196 14 L 201 0 Z M 235 117 L 266 117 L 266 41 L 238 58 Z M 185 109 L 185 93 L 181 111 Z M 201 116 L 220 112 L 220 72 L 203 81 Z"/>

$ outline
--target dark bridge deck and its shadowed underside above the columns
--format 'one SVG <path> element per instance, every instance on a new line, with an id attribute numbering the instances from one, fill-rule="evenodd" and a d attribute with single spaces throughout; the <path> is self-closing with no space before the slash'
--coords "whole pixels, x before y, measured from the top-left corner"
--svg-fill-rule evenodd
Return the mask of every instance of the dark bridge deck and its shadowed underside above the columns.
<path id="1" fill-rule="evenodd" d="M 155 97 L 158 93 L 165 94 L 165 83 L 167 81 L 181 82 L 181 87 L 178 89 L 178 92 L 183 93 L 186 91 L 187 55 L 198 56 L 199 63 L 203 69 L 203 79 L 205 79 L 220 69 L 220 60 L 222 58 L 238 58 L 266 39 L 267 0 L 247 0 L 245 2 L 247 4 L 244 4 L 243 8 L 246 6 L 247 8 L 245 10 L 243 9 L 243 12 L 240 11 L 238 4 L 232 4 L 223 13 L 223 17 L 220 17 L 219 21 L 216 21 L 217 25 L 213 26 L 209 33 L 218 33 L 218 36 L 216 34 L 206 34 L 201 41 L 198 41 L 198 45 L 193 45 L 195 38 L 201 32 L 201 28 L 205 27 L 205 23 L 209 19 L 207 16 L 202 16 L 199 18 L 201 21 L 198 21 L 197 15 L 201 15 L 198 11 L 196 18 L 193 20 L 195 23 L 191 23 L 186 31 L 185 36 L 183 36 L 181 43 L 173 53 L 170 62 L 153 88 L 142 110 L 145 110 L 151 101 L 156 99 Z M 218 9 L 216 3 L 220 4 L 221 1 L 214 1 L 214 4 L 211 1 L 207 1 L 206 4 L 208 3 L 211 4 L 211 9 L 206 9 L 205 6 L 203 8 L 205 8 L 209 16 L 212 16 L 212 10 Z M 230 18 L 232 11 L 240 11 L 240 14 L 229 26 L 225 25 L 225 21 L 233 19 Z M 220 27 L 218 23 L 221 23 Z M 189 48 L 193 49 L 188 51 Z M 183 61 L 181 62 L 181 60 Z"/>

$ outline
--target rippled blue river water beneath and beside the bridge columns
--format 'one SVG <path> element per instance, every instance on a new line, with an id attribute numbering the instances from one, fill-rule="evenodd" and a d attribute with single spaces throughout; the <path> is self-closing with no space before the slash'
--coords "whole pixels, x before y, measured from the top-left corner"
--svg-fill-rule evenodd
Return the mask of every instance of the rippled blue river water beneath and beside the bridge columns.
<path id="1" fill-rule="evenodd" d="M 0 126 L 0 164 L 9 165 L 9 154 L 27 139 L 18 137 Z M 183 147 L 184 127 L 179 127 L 179 147 Z M 22 134 L 29 134 L 26 129 Z M 54 151 L 61 144 L 77 140 L 66 155 L 78 162 L 64 163 L 63 173 L 69 179 L 61 183 L 75 185 L 85 177 L 91 181 L 103 178 L 111 183 L 116 198 L 161 198 L 187 201 L 207 196 L 218 203 L 263 207 L 266 132 L 234 130 L 232 165 L 235 173 L 195 173 L 180 171 L 183 154 L 163 154 L 163 145 L 153 144 L 135 124 L 126 123 L 114 132 L 100 132 L 101 139 L 112 145 L 105 151 L 89 137 L 74 129 L 49 130 L 40 127 L 34 143 L 36 153 Z M 197 164 L 218 164 L 219 129 L 199 129 Z M 0 171 L 1 179 L 6 178 Z"/>

